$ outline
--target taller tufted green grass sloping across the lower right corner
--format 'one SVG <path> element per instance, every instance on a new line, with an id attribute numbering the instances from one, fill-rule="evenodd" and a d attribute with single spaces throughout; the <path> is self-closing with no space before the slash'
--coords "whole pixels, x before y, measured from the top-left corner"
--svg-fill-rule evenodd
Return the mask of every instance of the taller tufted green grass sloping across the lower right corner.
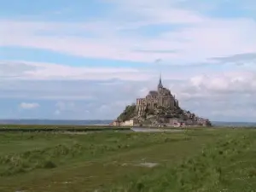
<path id="1" fill-rule="evenodd" d="M 131 175 L 125 182 L 102 191 L 255 191 L 256 161 L 246 157 L 246 154 L 255 153 L 254 138 L 255 134 L 224 137 L 177 166 L 166 164 L 141 177 Z M 241 166 L 241 159 L 249 166 L 248 169 Z M 234 187 L 237 183 L 233 182 L 238 178 L 243 182 Z"/>

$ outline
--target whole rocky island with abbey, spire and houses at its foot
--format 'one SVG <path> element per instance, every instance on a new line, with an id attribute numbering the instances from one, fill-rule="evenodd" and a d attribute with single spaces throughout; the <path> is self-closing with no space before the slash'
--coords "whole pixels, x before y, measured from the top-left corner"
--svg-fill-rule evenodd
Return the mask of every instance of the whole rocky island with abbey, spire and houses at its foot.
<path id="1" fill-rule="evenodd" d="M 150 90 L 148 96 L 137 98 L 136 104 L 126 106 L 123 113 L 113 121 L 116 126 L 211 126 L 204 119 L 183 110 L 171 91 L 166 89 L 160 77 L 157 90 Z"/>

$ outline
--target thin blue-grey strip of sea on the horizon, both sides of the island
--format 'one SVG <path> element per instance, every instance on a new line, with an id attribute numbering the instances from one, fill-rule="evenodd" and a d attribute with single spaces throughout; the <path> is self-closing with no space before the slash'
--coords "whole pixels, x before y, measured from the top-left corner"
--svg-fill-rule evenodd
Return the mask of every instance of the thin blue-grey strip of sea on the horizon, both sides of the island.
<path id="1" fill-rule="evenodd" d="M 63 119 L 0 119 L 0 125 L 109 125 L 113 119 L 63 120 Z M 212 121 L 213 126 L 251 127 L 256 122 Z"/>

